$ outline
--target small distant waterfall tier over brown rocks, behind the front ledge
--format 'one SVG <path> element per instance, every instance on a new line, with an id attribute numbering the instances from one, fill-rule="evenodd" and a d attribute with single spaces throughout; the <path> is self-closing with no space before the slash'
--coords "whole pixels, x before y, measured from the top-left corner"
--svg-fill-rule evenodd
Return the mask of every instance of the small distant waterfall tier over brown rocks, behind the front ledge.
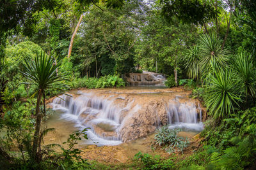
<path id="1" fill-rule="evenodd" d="M 145 73 L 129 73 L 126 80 L 131 86 L 157 86 L 164 87 L 166 81 L 164 74 L 145 72 Z"/>

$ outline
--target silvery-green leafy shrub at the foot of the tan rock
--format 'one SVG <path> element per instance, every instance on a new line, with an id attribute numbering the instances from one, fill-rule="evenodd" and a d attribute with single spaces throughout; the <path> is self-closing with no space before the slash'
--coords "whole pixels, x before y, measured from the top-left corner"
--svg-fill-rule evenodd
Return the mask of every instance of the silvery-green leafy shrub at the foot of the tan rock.
<path id="1" fill-rule="evenodd" d="M 169 129 L 168 126 L 163 126 L 157 129 L 157 134 L 154 136 L 156 144 L 164 146 L 164 150 L 168 153 L 179 150 L 183 153 L 184 148 L 189 144 L 188 139 L 178 137 L 179 129 Z"/>

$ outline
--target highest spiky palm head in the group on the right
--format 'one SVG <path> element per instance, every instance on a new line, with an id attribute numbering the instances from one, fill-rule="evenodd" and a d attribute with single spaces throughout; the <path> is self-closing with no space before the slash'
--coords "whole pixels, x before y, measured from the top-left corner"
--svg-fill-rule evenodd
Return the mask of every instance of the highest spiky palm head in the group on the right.
<path id="1" fill-rule="evenodd" d="M 212 71 L 212 66 L 226 66 L 228 51 L 221 48 L 221 40 L 216 34 L 200 36 L 200 69 L 203 76 Z"/>

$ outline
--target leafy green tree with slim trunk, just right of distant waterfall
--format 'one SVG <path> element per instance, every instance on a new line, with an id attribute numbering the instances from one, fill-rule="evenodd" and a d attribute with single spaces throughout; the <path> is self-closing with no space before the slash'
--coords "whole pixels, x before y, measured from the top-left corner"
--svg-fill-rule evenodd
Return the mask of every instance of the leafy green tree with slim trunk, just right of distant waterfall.
<path id="1" fill-rule="evenodd" d="M 135 60 L 142 69 L 174 74 L 177 83 L 179 60 L 196 37 L 194 25 L 182 24 L 173 17 L 171 23 L 159 15 L 159 8 L 148 11 Z M 193 33 L 192 33 L 193 32 Z"/>

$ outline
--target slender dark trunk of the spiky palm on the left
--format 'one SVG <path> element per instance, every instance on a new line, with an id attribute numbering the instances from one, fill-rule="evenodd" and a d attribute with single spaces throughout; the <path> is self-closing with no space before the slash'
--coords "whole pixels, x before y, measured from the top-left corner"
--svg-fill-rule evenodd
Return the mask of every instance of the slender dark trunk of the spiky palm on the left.
<path id="1" fill-rule="evenodd" d="M 36 152 L 38 149 L 38 139 L 40 133 L 40 126 L 41 126 L 41 118 L 42 114 L 40 113 L 40 103 L 43 96 L 43 92 L 40 89 L 38 91 L 37 101 L 36 101 L 36 127 L 35 127 L 35 134 L 33 139 L 33 147 L 32 147 L 32 160 L 36 161 Z"/>

